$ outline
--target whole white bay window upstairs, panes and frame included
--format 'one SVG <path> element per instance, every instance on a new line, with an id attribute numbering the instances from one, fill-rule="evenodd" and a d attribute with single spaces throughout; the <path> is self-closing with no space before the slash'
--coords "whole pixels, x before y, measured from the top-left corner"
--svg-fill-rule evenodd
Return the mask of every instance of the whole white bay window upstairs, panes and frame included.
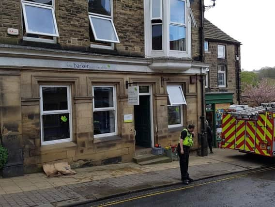
<path id="1" fill-rule="evenodd" d="M 144 10 L 146 57 L 191 58 L 189 0 L 146 0 Z"/>

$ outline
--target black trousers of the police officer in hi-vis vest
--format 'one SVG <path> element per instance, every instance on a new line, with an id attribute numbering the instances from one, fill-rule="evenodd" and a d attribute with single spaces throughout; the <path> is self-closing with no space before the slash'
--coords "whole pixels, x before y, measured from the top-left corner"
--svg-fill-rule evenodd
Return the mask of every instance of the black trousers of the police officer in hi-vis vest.
<path id="1" fill-rule="evenodd" d="M 178 155 L 180 157 L 180 167 L 182 180 L 186 180 L 189 177 L 188 174 L 188 165 L 189 165 L 189 151 L 190 147 L 183 146 L 183 155 L 181 154 L 181 146 L 178 144 Z"/>

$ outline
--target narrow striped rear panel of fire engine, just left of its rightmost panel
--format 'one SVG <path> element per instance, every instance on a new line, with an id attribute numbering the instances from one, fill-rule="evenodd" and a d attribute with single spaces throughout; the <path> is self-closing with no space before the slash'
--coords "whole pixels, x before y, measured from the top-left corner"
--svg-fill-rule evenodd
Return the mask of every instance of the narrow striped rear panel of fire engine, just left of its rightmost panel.
<path id="1" fill-rule="evenodd" d="M 246 121 L 244 150 L 255 152 L 256 122 Z"/>

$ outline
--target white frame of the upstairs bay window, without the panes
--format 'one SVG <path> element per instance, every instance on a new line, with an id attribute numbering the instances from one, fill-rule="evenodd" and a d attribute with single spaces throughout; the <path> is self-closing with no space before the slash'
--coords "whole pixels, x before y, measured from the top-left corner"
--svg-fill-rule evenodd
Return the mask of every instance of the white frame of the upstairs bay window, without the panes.
<path id="1" fill-rule="evenodd" d="M 151 0 L 144 0 L 144 35 L 145 35 L 145 57 L 179 57 L 191 59 L 191 16 L 190 2 L 185 2 L 185 38 L 186 51 L 170 50 L 169 48 L 169 22 L 170 22 L 170 0 L 162 1 L 162 50 L 152 49 L 152 7 Z"/>

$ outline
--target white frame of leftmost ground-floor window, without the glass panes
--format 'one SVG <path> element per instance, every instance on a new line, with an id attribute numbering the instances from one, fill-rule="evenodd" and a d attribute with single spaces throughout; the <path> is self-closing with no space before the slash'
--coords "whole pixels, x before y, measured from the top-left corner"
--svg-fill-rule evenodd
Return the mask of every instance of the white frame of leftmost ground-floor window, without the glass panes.
<path id="1" fill-rule="evenodd" d="M 72 142 L 73 141 L 73 120 L 72 120 L 72 104 L 71 104 L 71 87 L 68 85 L 40 85 L 39 86 L 40 92 L 40 127 L 41 127 L 41 145 L 48 145 L 48 144 L 56 144 L 56 143 L 65 143 L 65 142 Z M 67 88 L 67 110 L 52 110 L 52 111 L 44 111 L 43 108 L 43 88 Z M 44 140 L 44 129 L 43 129 L 43 115 L 51 115 L 51 114 L 61 114 L 61 113 L 69 113 L 69 127 L 70 127 L 70 138 L 62 139 L 62 140 L 53 140 L 53 141 L 43 141 Z"/>

